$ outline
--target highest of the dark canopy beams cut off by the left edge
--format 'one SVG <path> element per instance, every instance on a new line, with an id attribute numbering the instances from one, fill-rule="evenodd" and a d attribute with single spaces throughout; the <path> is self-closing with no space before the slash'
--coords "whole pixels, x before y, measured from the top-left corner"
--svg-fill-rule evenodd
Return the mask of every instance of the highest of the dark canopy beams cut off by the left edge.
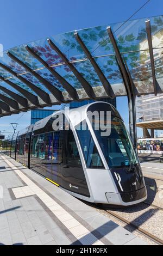
<path id="1" fill-rule="evenodd" d="M 16 72 L 11 70 L 10 68 L 8 68 L 8 66 L 5 66 L 2 63 L 0 63 L 0 66 L 4 70 L 7 70 L 8 72 L 10 72 L 10 74 L 15 76 L 16 78 L 18 78 L 18 80 L 20 80 L 22 83 L 26 84 L 30 89 L 32 89 L 41 98 L 41 100 L 43 100 L 47 104 L 51 104 L 51 100 L 49 98 L 49 95 L 47 93 L 45 93 L 42 89 L 40 89 L 39 87 L 35 86 L 35 84 L 29 82 L 28 80 L 26 80 L 26 78 L 24 78 L 22 76 L 18 76 L 16 74 Z"/>

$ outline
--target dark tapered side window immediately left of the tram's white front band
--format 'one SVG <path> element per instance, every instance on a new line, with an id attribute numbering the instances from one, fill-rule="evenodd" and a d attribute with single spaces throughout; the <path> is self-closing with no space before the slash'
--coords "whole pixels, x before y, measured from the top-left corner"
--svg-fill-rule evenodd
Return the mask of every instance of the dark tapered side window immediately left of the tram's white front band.
<path id="1" fill-rule="evenodd" d="M 66 162 L 72 166 L 82 166 L 77 143 L 71 130 L 67 134 Z"/>

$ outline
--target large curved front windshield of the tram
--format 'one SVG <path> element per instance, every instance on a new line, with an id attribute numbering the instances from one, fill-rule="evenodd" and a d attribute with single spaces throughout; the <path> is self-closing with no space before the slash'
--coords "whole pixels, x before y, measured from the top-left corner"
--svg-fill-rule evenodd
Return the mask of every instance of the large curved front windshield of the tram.
<path id="1" fill-rule="evenodd" d="M 101 122 L 98 130 L 95 129 L 95 119 L 92 122 L 93 130 L 109 167 L 118 168 L 137 164 L 137 155 L 123 121 L 120 118 L 111 117 L 111 124 L 107 125 L 111 125 L 109 136 L 103 133 L 106 120 Z"/>

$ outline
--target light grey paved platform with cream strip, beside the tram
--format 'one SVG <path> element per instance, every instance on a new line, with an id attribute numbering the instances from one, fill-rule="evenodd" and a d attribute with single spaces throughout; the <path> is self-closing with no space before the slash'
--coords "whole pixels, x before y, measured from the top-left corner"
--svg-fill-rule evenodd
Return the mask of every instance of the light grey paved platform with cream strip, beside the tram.
<path id="1" fill-rule="evenodd" d="M 0 245 L 145 245 L 43 176 L 0 154 Z"/>

